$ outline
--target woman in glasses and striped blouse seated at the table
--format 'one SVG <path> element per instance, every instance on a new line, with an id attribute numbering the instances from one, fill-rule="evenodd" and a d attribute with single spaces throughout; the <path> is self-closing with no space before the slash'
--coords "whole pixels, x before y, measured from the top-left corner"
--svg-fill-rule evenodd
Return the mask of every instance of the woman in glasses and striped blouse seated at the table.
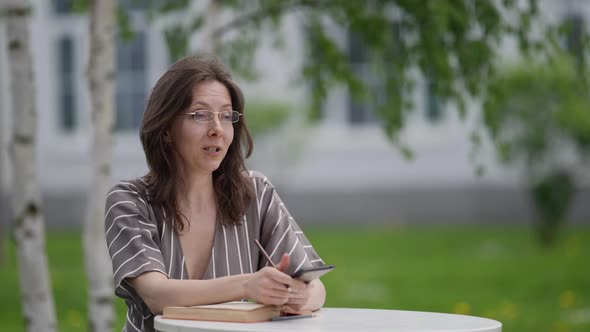
<path id="1" fill-rule="evenodd" d="M 127 331 L 153 331 L 166 306 L 251 299 L 315 310 L 322 265 L 264 175 L 247 172 L 252 138 L 240 88 L 213 58 L 188 57 L 156 83 L 140 138 L 149 172 L 106 198 L 105 232 Z M 261 255 L 259 240 L 277 268 Z M 270 266 L 269 266 L 270 265 Z"/>

